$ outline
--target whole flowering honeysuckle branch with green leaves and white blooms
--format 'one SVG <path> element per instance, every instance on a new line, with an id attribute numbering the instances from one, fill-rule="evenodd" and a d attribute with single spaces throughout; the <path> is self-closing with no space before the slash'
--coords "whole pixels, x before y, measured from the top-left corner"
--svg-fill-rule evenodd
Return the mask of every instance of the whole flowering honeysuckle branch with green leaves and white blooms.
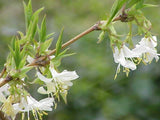
<path id="1" fill-rule="evenodd" d="M 66 96 L 69 88 L 73 85 L 72 80 L 79 76 L 75 71 L 58 71 L 61 59 L 73 55 L 73 53 L 68 54 L 68 49 L 64 48 L 92 31 L 101 30 L 97 43 L 102 42 L 105 33 L 108 33 L 114 61 L 118 63 L 115 78 L 120 72 L 120 66 L 124 68 L 123 72 L 128 76 L 130 70 L 135 70 L 141 61 L 145 64 L 151 63 L 154 58 L 158 61 L 157 38 L 152 36 L 149 31 L 151 23 L 140 10 L 146 5 L 140 1 L 116 0 L 110 16 L 106 20 L 97 22 L 64 44 L 62 44 L 62 29 L 56 48 L 53 50 L 48 49 L 52 44 L 53 38 L 50 37 L 53 33 L 46 34 L 45 16 L 40 27 L 38 26 L 39 14 L 43 8 L 33 12 L 31 0 L 27 5 L 24 3 L 26 33 L 19 32 L 20 37 L 13 38 L 9 46 L 10 54 L 0 74 L 0 103 L 2 104 L 1 110 L 5 115 L 15 119 L 17 113 L 28 112 L 29 119 L 29 111 L 32 111 L 35 119 L 42 119 L 43 111 L 52 111 L 53 106 L 56 108 L 55 99 L 59 101 L 61 96 L 67 103 Z M 129 24 L 130 27 L 128 35 L 123 41 L 114 26 L 115 21 L 119 20 Z M 136 45 L 132 42 L 133 24 L 138 26 L 137 35 L 144 35 L 144 38 Z M 37 33 L 38 40 L 35 40 Z M 64 50 L 62 51 L 62 49 Z M 31 83 L 28 82 L 27 72 L 34 67 L 36 68 L 36 78 Z M 47 94 L 48 97 L 37 101 L 25 89 L 27 84 L 38 84 L 37 92 Z"/>

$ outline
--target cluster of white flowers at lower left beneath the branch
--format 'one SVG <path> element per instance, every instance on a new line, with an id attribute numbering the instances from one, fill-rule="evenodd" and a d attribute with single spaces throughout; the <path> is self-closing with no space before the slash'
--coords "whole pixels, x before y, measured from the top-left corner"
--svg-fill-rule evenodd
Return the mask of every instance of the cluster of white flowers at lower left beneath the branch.
<path id="1" fill-rule="evenodd" d="M 28 57 L 28 59 L 32 60 L 31 57 Z M 71 80 L 75 80 L 79 76 L 75 71 L 64 70 L 63 72 L 58 73 L 54 67 L 51 66 L 52 65 L 50 65 L 49 69 L 52 78 L 46 78 L 42 73 L 37 72 L 38 79 L 45 83 L 39 87 L 38 92 L 41 94 L 48 94 L 47 98 L 37 101 L 24 89 L 24 84 L 17 84 L 14 88 L 9 84 L 5 84 L 0 88 L 0 103 L 3 103 L 1 107 L 2 111 L 12 119 L 15 119 L 17 113 L 25 112 L 28 113 L 27 116 L 29 119 L 29 112 L 32 111 L 36 120 L 42 120 L 42 116 L 47 114 L 44 111 L 52 111 L 53 103 L 55 103 L 57 95 L 67 95 L 69 87 L 73 85 Z M 2 79 L 0 80 L 2 81 Z M 21 81 L 24 82 L 24 79 Z M 14 95 L 12 95 L 12 91 L 21 91 L 22 93 L 15 92 Z"/>

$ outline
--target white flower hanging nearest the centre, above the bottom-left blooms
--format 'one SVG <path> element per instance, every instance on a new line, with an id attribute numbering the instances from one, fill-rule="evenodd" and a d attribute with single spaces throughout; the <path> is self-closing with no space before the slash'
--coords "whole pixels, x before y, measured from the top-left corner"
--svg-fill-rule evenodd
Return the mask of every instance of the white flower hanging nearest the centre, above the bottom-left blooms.
<path id="1" fill-rule="evenodd" d="M 41 94 L 56 92 L 57 85 L 60 85 L 62 89 L 65 90 L 68 88 L 68 86 L 73 85 L 71 80 L 75 80 L 79 77 L 75 71 L 64 70 L 63 72 L 58 73 L 53 67 L 50 67 L 49 69 L 52 74 L 52 78 L 46 78 L 40 72 L 37 72 L 38 78 L 45 82 L 47 86 L 47 90 L 45 90 L 43 87 L 38 89 L 38 92 Z"/>

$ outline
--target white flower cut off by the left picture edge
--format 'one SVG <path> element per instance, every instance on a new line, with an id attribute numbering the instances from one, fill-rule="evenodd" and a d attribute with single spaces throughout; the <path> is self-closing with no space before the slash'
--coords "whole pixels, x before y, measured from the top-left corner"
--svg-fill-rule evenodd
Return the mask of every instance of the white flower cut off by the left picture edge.
<path id="1" fill-rule="evenodd" d="M 3 81 L 3 79 L 0 79 L 0 82 Z M 5 102 L 6 101 L 6 96 L 9 95 L 8 91 L 9 85 L 5 84 L 2 87 L 0 87 L 0 102 Z"/>

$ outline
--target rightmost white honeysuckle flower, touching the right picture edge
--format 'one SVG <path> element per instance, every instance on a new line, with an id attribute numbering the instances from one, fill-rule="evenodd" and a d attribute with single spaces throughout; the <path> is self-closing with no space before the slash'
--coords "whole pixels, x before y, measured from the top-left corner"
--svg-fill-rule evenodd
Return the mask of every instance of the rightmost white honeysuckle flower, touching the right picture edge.
<path id="1" fill-rule="evenodd" d="M 154 58 L 158 61 L 159 57 L 155 47 L 157 46 L 156 36 L 142 38 L 138 45 L 132 50 L 140 58 L 143 59 L 144 63 L 150 63 Z"/>

